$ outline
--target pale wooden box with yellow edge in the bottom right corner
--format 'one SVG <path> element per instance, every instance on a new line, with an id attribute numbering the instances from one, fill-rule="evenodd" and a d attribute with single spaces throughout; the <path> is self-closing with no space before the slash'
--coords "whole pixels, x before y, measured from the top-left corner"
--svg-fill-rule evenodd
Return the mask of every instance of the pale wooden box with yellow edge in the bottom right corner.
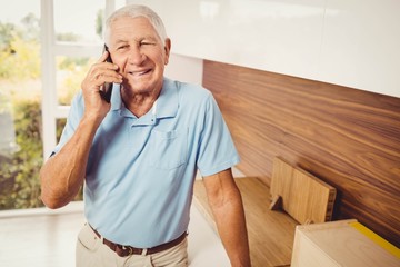
<path id="1" fill-rule="evenodd" d="M 399 267 L 400 250 L 356 220 L 298 226 L 291 266 Z"/>

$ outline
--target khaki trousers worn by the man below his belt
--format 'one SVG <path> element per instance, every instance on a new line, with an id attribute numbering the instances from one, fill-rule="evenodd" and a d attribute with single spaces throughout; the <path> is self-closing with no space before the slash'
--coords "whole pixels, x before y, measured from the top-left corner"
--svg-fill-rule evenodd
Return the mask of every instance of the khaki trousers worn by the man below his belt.
<path id="1" fill-rule="evenodd" d="M 188 240 L 152 255 L 120 257 L 87 224 L 78 235 L 77 267 L 187 267 Z"/>

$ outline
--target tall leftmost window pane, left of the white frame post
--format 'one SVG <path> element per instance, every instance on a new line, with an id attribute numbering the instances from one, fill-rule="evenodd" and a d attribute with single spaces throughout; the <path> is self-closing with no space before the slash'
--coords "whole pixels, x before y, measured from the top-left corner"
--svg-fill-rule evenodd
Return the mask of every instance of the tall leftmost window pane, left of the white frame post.
<path id="1" fill-rule="evenodd" d="M 40 1 L 0 10 L 0 209 L 40 206 Z"/>

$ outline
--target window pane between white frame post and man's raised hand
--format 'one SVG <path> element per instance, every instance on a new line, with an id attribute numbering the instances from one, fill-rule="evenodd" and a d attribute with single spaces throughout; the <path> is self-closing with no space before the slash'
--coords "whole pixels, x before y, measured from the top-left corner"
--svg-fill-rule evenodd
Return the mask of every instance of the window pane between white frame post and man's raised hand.
<path id="1" fill-rule="evenodd" d="M 80 89 L 89 67 L 97 60 L 94 53 L 101 53 L 104 2 L 54 0 L 53 4 L 54 39 L 58 48 L 54 73 L 57 101 L 60 106 L 68 106 Z M 84 57 L 86 52 L 79 47 L 93 49 L 92 57 Z M 77 53 L 81 56 L 76 56 Z"/>

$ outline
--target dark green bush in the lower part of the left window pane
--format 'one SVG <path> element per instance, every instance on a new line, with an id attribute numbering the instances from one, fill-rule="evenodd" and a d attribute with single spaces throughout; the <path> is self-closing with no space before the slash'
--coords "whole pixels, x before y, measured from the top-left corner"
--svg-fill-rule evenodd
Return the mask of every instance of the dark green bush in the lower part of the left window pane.
<path id="1" fill-rule="evenodd" d="M 42 206 L 38 178 L 42 165 L 41 115 L 38 101 L 16 105 L 16 137 L 20 149 L 0 160 L 0 209 Z M 6 159 L 6 158 L 4 158 Z"/>

